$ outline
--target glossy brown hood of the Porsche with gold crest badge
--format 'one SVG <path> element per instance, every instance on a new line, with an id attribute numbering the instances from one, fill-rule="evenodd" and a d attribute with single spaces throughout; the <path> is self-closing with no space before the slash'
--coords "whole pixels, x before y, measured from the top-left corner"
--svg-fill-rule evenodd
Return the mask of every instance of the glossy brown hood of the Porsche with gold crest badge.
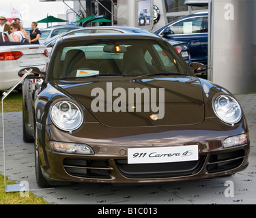
<path id="1" fill-rule="evenodd" d="M 55 83 L 109 127 L 193 125 L 204 119 L 201 83 L 193 76 Z"/>

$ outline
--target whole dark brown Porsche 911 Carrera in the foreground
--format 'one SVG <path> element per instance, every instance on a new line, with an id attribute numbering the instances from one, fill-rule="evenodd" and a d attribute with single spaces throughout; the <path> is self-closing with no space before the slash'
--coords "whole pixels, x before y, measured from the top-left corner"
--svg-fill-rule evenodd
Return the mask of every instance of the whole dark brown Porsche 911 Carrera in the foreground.
<path id="1" fill-rule="evenodd" d="M 43 79 L 35 89 L 33 78 Z M 60 38 L 46 72 L 34 67 L 23 82 L 23 124 L 25 142 L 35 141 L 40 187 L 181 181 L 248 166 L 236 98 L 197 78 L 156 35 Z"/>

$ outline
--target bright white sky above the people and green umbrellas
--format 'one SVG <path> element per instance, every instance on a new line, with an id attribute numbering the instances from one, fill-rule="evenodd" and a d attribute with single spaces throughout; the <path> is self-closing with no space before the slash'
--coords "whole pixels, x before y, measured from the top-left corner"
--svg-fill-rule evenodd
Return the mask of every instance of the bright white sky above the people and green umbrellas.
<path id="1" fill-rule="evenodd" d="M 72 1 L 65 1 L 72 6 Z M 58 16 L 58 14 L 66 14 L 69 9 L 62 1 L 40 2 L 39 0 L 1 0 L 0 16 L 5 15 L 6 18 L 11 16 L 11 5 L 20 12 L 23 17 L 23 26 L 31 27 L 31 22 L 42 20 L 48 15 Z M 63 18 L 61 16 L 61 18 Z M 66 19 L 66 18 L 65 18 Z M 65 23 L 63 23 L 65 24 Z M 53 23 L 57 25 L 57 23 Z M 38 23 L 38 28 L 46 27 L 46 23 Z"/>

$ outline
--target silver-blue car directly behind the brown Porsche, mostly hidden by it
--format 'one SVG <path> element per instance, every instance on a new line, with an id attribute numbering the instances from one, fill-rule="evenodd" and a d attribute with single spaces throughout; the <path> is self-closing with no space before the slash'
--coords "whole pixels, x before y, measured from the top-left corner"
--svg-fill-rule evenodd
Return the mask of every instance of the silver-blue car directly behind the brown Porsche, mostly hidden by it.
<path id="1" fill-rule="evenodd" d="M 100 26 L 100 27 L 85 27 L 83 29 L 76 29 L 73 31 L 69 31 L 68 33 L 62 33 L 48 39 L 44 42 L 44 45 L 48 48 L 48 52 L 51 52 L 51 48 L 55 41 L 59 37 L 63 37 L 66 35 L 82 35 L 89 33 L 146 33 L 146 34 L 154 34 L 145 29 L 137 28 L 137 27 L 117 27 L 117 26 Z M 177 50 L 177 52 L 182 55 L 186 63 L 190 64 L 190 50 L 188 49 L 188 44 L 186 42 L 177 42 L 175 40 L 168 40 L 168 42 Z"/>

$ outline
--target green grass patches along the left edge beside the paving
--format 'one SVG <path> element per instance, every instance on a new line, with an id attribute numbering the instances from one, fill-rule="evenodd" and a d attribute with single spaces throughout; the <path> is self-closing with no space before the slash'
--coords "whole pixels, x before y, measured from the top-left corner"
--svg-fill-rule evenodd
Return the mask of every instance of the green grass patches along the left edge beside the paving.
<path id="1" fill-rule="evenodd" d="M 2 97 L 2 95 L 1 95 Z M 2 106 L 0 107 L 2 112 Z M 23 110 L 23 94 L 18 91 L 12 91 L 10 95 L 3 99 L 3 112 L 18 112 Z M 22 139 L 20 139 L 22 140 Z M 6 181 L 6 185 L 15 184 L 12 181 Z M 48 204 L 42 197 L 38 198 L 29 192 L 29 196 L 20 196 L 20 192 L 5 193 L 4 177 L 0 174 L 0 204 Z"/>

